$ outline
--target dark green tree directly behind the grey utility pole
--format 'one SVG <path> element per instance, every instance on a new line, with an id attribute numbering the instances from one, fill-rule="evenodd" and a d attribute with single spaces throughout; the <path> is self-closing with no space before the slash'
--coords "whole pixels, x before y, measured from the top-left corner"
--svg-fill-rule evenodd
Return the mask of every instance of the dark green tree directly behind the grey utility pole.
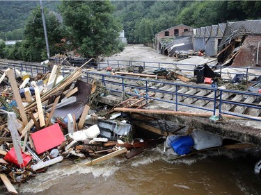
<path id="1" fill-rule="evenodd" d="M 22 42 L 22 60 L 40 62 L 47 58 L 45 33 L 42 26 L 40 8 L 34 10 L 27 20 Z M 61 24 L 53 12 L 45 10 L 48 42 L 51 55 L 61 53 L 61 40 L 63 38 Z"/>

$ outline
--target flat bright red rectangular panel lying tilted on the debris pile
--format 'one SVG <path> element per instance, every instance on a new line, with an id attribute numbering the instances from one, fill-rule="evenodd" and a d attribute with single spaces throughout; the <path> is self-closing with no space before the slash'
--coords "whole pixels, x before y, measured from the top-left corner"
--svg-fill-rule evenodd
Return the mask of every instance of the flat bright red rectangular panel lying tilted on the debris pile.
<path id="1" fill-rule="evenodd" d="M 31 134 L 35 150 L 38 154 L 61 145 L 65 138 L 58 124 L 54 124 Z"/>

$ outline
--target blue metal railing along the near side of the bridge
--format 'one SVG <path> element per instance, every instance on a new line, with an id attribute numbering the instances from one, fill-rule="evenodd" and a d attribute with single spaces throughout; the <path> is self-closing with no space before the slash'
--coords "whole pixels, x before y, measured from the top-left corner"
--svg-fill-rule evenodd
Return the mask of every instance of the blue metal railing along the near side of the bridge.
<path id="1" fill-rule="evenodd" d="M 42 72 L 43 74 L 46 74 L 48 71 L 52 71 L 52 67 L 40 67 L 40 66 L 36 66 L 36 65 L 18 64 L 18 65 L 10 65 L 10 67 L 13 67 L 13 69 L 15 69 L 16 67 L 19 67 L 22 70 L 30 71 L 32 75 L 34 73 L 38 73 L 38 72 Z M 72 71 L 72 69 L 63 68 L 61 70 L 61 74 L 63 76 L 67 76 L 68 74 L 70 74 L 70 71 Z M 197 108 L 197 109 L 200 109 L 200 110 L 210 111 L 210 112 L 213 112 L 213 115 L 216 115 L 216 105 L 219 102 L 219 118 L 221 117 L 222 114 L 226 114 L 226 115 L 233 115 L 233 116 L 237 116 L 237 117 L 243 117 L 243 118 L 246 118 L 246 119 L 254 119 L 254 120 L 261 121 L 260 118 L 257 118 L 257 117 L 252 117 L 252 116 L 248 117 L 246 115 L 241 115 L 239 113 L 233 113 L 233 112 L 227 112 L 227 111 L 224 111 L 224 110 L 221 109 L 223 103 L 230 103 L 230 104 L 233 104 L 233 105 L 244 106 L 246 108 L 254 108 L 254 109 L 260 109 L 261 108 L 261 106 L 254 105 L 254 104 L 251 104 L 251 103 L 232 102 L 232 101 L 228 101 L 226 99 L 223 99 L 222 95 L 225 92 L 230 92 L 230 93 L 233 93 L 233 94 L 242 94 L 244 96 L 255 96 L 255 99 L 260 99 L 261 94 L 256 94 L 256 93 L 251 93 L 251 92 L 239 92 L 239 91 L 232 91 L 232 90 L 221 90 L 221 89 L 217 89 L 215 87 L 201 87 L 201 86 L 187 85 L 187 84 L 181 84 L 181 83 L 163 82 L 163 81 L 159 81 L 159 80 L 146 80 L 146 79 L 141 79 L 141 78 L 113 76 L 113 75 L 100 74 L 100 73 L 97 73 L 97 72 L 90 72 L 90 71 L 85 71 L 82 78 L 84 78 L 87 82 L 89 82 L 90 80 L 93 80 L 93 78 L 98 78 L 99 80 L 102 81 L 103 85 L 109 85 L 109 84 L 119 85 L 120 90 L 119 89 L 113 90 L 112 88 L 109 89 L 111 92 L 116 92 L 116 93 L 119 93 L 119 94 L 121 94 L 122 92 L 125 92 L 125 94 L 129 94 L 131 96 L 137 96 L 137 94 L 135 92 L 130 92 L 129 90 L 126 90 L 126 87 L 131 87 L 132 89 L 143 91 L 143 92 L 145 92 L 145 95 L 142 96 L 142 97 L 145 97 L 145 99 L 147 99 L 147 100 L 151 99 L 151 100 L 171 103 L 171 104 L 173 104 L 173 110 L 176 110 L 176 111 L 178 110 L 179 106 L 185 106 L 185 107 L 189 107 L 189 108 Z M 111 80 L 109 80 L 109 78 L 118 78 L 118 80 L 120 80 L 120 82 L 117 83 L 116 81 L 111 81 Z M 126 83 L 125 80 L 132 80 L 132 81 L 135 81 L 135 82 L 131 83 L 129 81 L 129 82 Z M 143 82 L 144 85 L 143 86 L 137 85 L 136 81 Z M 159 85 L 159 84 L 170 85 L 170 88 L 173 87 L 173 88 L 175 88 L 175 90 L 170 92 L 168 90 L 156 89 L 156 88 L 151 87 L 150 83 L 153 83 L 153 85 Z M 197 96 L 196 94 L 181 93 L 181 92 L 179 92 L 181 87 L 189 87 L 191 89 L 197 89 L 197 90 L 209 90 L 209 93 L 214 92 L 214 98 L 209 98 L 207 96 Z M 165 99 L 160 99 L 160 98 L 149 96 L 150 93 L 156 93 L 156 92 L 163 93 L 163 94 L 169 94 L 169 95 L 172 96 L 172 99 L 165 100 Z M 219 94 L 219 96 L 217 96 L 217 94 Z M 198 100 L 204 100 L 204 101 L 207 101 L 207 102 L 211 101 L 211 102 L 214 103 L 214 105 L 213 105 L 213 108 L 205 108 L 203 106 L 186 104 L 182 101 L 178 101 L 178 98 L 181 97 L 181 96 L 184 97 L 184 99 L 192 98 L 194 100 L 196 99 L 196 101 L 198 101 Z M 174 106 L 175 106 L 175 108 L 174 108 Z M 259 112 L 259 111 L 257 111 L 257 112 Z"/>

